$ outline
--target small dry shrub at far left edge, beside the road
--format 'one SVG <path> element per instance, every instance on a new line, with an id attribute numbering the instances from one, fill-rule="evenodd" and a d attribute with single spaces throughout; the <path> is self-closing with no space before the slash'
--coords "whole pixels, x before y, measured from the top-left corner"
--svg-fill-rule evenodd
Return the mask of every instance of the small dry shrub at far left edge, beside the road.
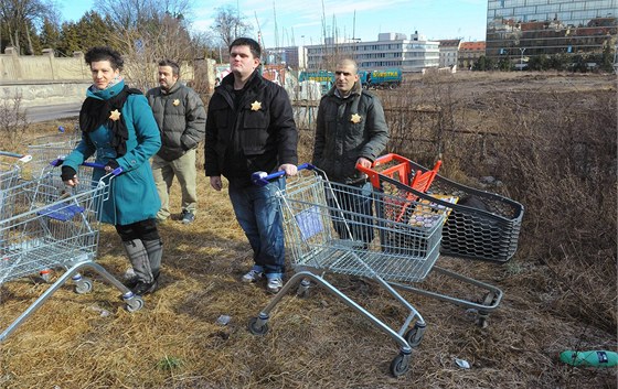
<path id="1" fill-rule="evenodd" d="M 4 151 L 18 151 L 28 130 L 25 112 L 21 109 L 21 94 L 15 93 L 11 99 L 0 101 L 0 148 Z"/>

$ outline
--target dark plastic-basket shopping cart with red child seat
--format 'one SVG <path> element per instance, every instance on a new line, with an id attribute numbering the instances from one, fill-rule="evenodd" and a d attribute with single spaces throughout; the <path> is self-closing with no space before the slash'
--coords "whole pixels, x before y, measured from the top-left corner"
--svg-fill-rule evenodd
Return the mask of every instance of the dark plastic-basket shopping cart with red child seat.
<path id="1" fill-rule="evenodd" d="M 510 198 L 447 180 L 437 174 L 437 168 L 439 164 L 429 170 L 397 154 L 377 158 L 370 169 L 356 166 L 367 174 L 376 191 L 397 197 L 405 195 L 417 199 L 424 206 L 429 204 L 446 213 L 447 219 L 440 244 L 441 255 L 496 263 L 509 261 L 518 248 L 523 206 Z M 419 176 L 430 177 L 424 187 L 412 184 L 418 182 Z M 493 285 L 438 266 L 434 267 L 434 271 L 484 291 L 484 296 L 478 300 L 482 302 L 399 283 L 393 285 L 476 310 L 478 324 L 487 326 L 488 315 L 498 307 L 503 292 Z"/>

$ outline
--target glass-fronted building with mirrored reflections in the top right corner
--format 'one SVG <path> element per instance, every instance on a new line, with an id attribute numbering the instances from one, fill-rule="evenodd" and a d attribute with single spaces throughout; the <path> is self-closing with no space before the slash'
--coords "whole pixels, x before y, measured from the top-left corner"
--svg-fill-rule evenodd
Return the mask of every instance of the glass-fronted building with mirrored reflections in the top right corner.
<path id="1" fill-rule="evenodd" d="M 616 44 L 618 0 L 489 0 L 486 55 L 601 53 Z"/>

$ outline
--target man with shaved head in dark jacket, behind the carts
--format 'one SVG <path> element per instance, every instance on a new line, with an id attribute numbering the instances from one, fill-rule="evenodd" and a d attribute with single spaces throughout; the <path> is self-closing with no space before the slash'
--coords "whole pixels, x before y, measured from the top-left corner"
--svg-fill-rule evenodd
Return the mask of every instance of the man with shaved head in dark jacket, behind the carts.
<path id="1" fill-rule="evenodd" d="M 350 196 L 339 193 L 338 204 L 353 215 L 347 217 L 351 237 L 343 223 L 334 224 L 341 238 L 369 244 L 371 219 L 359 215 L 372 215 L 372 187 L 355 166 L 371 168 L 388 142 L 388 127 L 377 97 L 363 90 L 354 61 L 341 60 L 334 75 L 318 107 L 312 163 L 329 180 L 352 186 L 345 190 Z"/>

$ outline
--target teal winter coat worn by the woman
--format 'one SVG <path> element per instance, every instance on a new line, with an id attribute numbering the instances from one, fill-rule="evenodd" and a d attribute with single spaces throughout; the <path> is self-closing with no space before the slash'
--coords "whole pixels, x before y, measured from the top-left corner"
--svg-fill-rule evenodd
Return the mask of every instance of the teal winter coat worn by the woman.
<path id="1" fill-rule="evenodd" d="M 120 82 L 105 90 L 87 90 L 87 97 L 109 99 L 125 86 Z M 161 148 L 159 127 L 143 95 L 130 94 L 120 111 L 129 134 L 127 153 L 118 156 L 111 147 L 111 131 L 104 125 L 92 132 L 83 132 L 82 141 L 68 154 L 64 164 L 78 171 L 79 164 L 96 152 L 96 162 L 106 164 L 115 159 L 122 173 L 114 177 L 109 198 L 103 203 L 100 220 L 113 225 L 128 225 L 153 218 L 161 202 L 154 186 L 150 158 Z M 93 171 L 93 181 L 105 175 L 102 169 Z"/>

